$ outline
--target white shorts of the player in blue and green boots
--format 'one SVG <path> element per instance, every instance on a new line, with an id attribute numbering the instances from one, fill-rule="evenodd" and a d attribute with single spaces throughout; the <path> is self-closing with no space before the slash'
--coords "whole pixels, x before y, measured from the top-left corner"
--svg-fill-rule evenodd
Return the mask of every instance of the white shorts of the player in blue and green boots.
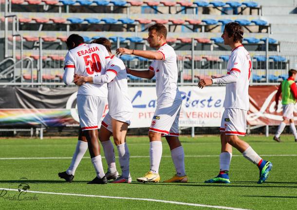
<path id="1" fill-rule="evenodd" d="M 226 135 L 242 135 L 246 133 L 246 110 L 225 109 L 221 121 L 220 132 Z"/>

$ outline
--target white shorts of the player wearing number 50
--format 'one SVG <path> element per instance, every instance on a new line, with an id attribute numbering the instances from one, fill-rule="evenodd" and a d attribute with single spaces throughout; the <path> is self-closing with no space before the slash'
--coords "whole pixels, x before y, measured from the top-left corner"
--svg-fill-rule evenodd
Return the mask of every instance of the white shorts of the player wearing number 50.
<path id="1" fill-rule="evenodd" d="M 82 131 L 98 129 L 107 104 L 108 100 L 104 97 L 77 95 L 77 112 Z"/>

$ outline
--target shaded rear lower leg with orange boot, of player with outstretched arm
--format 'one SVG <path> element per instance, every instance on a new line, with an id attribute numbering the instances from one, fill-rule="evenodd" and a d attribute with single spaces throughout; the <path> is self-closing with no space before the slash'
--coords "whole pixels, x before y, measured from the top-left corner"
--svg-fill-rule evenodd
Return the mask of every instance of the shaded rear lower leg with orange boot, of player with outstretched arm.
<path id="1" fill-rule="evenodd" d="M 178 136 L 166 136 L 166 140 L 171 151 L 171 158 L 176 174 L 164 182 L 187 182 L 184 148 Z"/>

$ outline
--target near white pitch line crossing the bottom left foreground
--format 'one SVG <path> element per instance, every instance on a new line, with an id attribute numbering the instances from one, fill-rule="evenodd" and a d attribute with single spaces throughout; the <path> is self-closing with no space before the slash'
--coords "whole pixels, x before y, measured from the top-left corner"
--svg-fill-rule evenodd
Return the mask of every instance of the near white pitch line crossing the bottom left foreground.
<path id="1" fill-rule="evenodd" d="M 18 189 L 6 189 L 6 188 L 0 188 L 0 190 L 18 191 Z M 232 207 L 223 207 L 223 206 L 211 206 L 211 205 L 204 205 L 204 204 L 184 203 L 184 202 L 178 202 L 178 201 L 166 201 L 166 200 L 157 200 L 157 199 L 149 199 L 149 198 L 114 197 L 114 196 L 105 196 L 105 195 L 86 195 L 86 194 L 72 194 L 72 193 L 60 193 L 60 192 L 43 192 L 43 191 L 27 191 L 27 192 L 40 193 L 40 194 L 54 194 L 54 195 L 72 195 L 72 196 L 81 196 L 81 197 L 98 197 L 98 198 L 113 198 L 113 199 L 125 199 L 125 200 L 151 201 L 151 202 L 169 203 L 169 204 L 177 204 L 177 205 L 185 205 L 185 206 L 224 209 L 224 210 L 248 210 L 248 209 L 241 209 L 241 208 L 232 208 Z"/>

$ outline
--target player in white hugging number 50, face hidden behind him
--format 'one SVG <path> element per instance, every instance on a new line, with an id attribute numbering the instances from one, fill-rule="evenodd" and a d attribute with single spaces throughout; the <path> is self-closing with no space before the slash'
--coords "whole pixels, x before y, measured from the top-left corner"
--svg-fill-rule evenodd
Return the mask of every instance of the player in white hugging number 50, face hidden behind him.
<path id="1" fill-rule="evenodd" d="M 130 118 L 133 113 L 132 103 L 128 94 L 128 80 L 124 62 L 111 54 L 111 42 L 107 38 L 98 38 L 93 41 L 106 47 L 111 60 L 104 75 L 96 76 L 75 76 L 76 85 L 86 82 L 94 84 L 108 83 L 109 112 L 104 117 L 99 133 L 99 140 L 104 149 L 109 169 L 106 176 L 117 173 L 115 167 L 115 156 L 110 137 L 116 145 L 122 175 L 117 177 L 113 183 L 130 183 L 132 178 L 129 172 L 130 153 L 126 144 L 126 134 L 130 125 Z"/>

